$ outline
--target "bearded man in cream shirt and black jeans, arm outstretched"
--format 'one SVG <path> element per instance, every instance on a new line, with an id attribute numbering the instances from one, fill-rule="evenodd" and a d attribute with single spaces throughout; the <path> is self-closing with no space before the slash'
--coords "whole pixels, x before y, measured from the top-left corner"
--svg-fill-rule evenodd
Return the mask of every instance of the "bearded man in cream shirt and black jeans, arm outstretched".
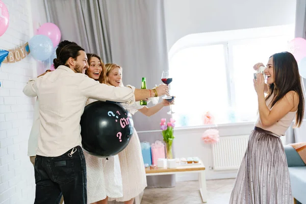
<path id="1" fill-rule="evenodd" d="M 81 148 L 80 120 L 86 100 L 134 103 L 154 97 L 151 90 L 100 84 L 83 74 L 87 67 L 84 49 L 77 44 L 64 46 L 55 71 L 31 80 L 23 89 L 27 96 L 38 96 L 40 135 L 35 158 L 35 203 L 87 203 L 86 163 Z M 156 88 L 157 95 L 168 94 L 168 87 Z"/>

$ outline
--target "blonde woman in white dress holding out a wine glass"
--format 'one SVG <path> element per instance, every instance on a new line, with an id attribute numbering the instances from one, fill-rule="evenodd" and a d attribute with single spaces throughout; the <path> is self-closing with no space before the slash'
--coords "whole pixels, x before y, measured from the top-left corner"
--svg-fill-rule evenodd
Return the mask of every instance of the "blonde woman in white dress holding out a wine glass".
<path id="1" fill-rule="evenodd" d="M 116 64 L 106 64 L 106 84 L 110 86 L 123 86 L 121 82 L 121 70 L 121 67 Z M 135 114 L 139 111 L 146 116 L 151 116 L 160 111 L 163 107 L 169 106 L 169 102 L 163 99 L 161 103 L 151 108 L 141 106 L 139 101 L 133 105 L 121 105 L 131 114 Z M 121 167 L 123 196 L 118 196 L 116 200 L 124 202 L 125 204 L 133 204 L 134 198 L 147 186 L 140 141 L 135 128 L 129 145 L 119 152 L 118 155 Z"/>

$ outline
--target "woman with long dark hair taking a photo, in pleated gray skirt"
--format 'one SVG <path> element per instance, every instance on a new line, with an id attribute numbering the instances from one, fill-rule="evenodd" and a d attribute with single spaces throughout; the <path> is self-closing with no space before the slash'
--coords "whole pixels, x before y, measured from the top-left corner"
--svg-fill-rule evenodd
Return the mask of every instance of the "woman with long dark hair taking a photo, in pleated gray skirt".
<path id="1" fill-rule="evenodd" d="M 264 66 L 254 65 L 254 69 Z M 299 127 L 304 114 L 304 96 L 297 62 L 288 52 L 269 58 L 264 73 L 254 79 L 259 117 L 251 132 L 239 168 L 230 203 L 293 203 L 290 177 L 281 141 L 295 119 Z M 265 97 L 264 93 L 267 93 Z"/>

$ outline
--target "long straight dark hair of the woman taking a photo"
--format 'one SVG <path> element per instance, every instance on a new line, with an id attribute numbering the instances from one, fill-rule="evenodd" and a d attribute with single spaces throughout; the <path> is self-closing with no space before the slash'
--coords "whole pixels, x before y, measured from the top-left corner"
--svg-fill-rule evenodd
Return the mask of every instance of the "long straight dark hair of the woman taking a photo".
<path id="1" fill-rule="evenodd" d="M 281 100 L 289 91 L 298 94 L 299 103 L 295 116 L 295 127 L 299 127 L 304 116 L 304 96 L 294 56 L 288 52 L 276 53 L 273 57 L 273 72 L 275 82 L 269 86 L 266 100 L 274 93 L 271 107 Z M 270 58 L 271 58 L 270 57 Z"/>

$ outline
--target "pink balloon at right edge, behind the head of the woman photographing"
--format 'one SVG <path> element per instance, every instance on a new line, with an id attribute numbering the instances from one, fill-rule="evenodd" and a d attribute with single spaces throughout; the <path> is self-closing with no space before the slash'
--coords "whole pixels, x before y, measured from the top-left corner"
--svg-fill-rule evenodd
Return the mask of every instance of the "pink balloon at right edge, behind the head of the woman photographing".
<path id="1" fill-rule="evenodd" d="M 289 52 L 294 56 L 295 60 L 299 62 L 306 57 L 306 40 L 303 38 L 294 38 L 288 43 Z"/>

